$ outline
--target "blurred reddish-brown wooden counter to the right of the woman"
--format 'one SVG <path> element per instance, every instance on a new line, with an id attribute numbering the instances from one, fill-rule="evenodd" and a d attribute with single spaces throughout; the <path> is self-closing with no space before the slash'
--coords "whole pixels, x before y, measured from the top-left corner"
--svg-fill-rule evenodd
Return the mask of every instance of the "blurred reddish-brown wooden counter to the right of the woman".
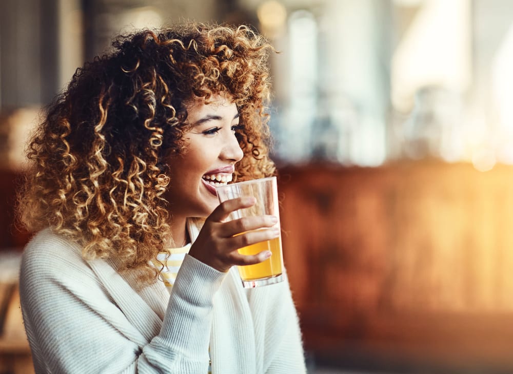
<path id="1" fill-rule="evenodd" d="M 513 167 L 286 167 L 279 193 L 309 351 L 513 369 Z"/>

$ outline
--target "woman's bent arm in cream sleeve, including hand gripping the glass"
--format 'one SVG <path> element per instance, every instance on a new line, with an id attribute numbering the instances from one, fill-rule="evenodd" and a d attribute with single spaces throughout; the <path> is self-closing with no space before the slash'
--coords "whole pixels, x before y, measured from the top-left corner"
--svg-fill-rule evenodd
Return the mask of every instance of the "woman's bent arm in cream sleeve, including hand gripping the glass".
<path id="1" fill-rule="evenodd" d="M 36 370 L 206 372 L 212 297 L 225 272 L 235 263 L 266 258 L 242 256 L 236 248 L 277 235 L 264 230 L 234 236 L 272 226 L 271 217 L 223 222 L 231 211 L 252 204 L 253 199 L 228 200 L 206 220 L 176 278 L 162 324 L 141 310 L 148 309 L 144 302 L 127 302 L 125 294 L 129 299 L 134 291 L 111 267 L 95 273 L 80 247 L 49 231 L 39 234 L 26 248 L 21 272 Z"/>

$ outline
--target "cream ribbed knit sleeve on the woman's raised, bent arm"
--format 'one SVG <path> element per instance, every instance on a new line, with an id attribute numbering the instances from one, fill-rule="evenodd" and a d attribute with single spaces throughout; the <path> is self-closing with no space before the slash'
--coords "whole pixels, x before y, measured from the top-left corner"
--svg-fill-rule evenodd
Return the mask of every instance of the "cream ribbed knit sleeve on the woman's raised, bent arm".
<path id="1" fill-rule="evenodd" d="M 187 256 L 162 327 L 147 339 L 80 251 L 53 234 L 40 236 L 27 246 L 20 273 L 35 371 L 204 374 L 212 297 L 223 278 L 224 273 Z"/>

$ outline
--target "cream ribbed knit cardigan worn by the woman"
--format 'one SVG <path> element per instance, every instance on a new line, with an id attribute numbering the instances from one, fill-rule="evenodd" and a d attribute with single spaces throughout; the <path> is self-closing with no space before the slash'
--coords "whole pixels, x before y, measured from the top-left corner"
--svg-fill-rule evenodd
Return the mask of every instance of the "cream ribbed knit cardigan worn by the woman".
<path id="1" fill-rule="evenodd" d="M 162 282 L 136 292 L 114 267 L 50 230 L 27 245 L 20 295 L 37 373 L 205 374 L 209 347 L 214 374 L 306 372 L 288 282 L 244 289 L 235 268 L 186 255 L 170 296 Z"/>

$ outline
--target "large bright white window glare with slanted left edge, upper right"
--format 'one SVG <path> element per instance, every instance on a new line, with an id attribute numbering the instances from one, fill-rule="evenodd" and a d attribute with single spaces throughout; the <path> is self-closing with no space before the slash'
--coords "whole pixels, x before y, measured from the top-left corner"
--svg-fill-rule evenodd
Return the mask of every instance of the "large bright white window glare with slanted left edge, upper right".
<path id="1" fill-rule="evenodd" d="M 463 92 L 470 81 L 468 0 L 423 2 L 392 58 L 392 102 L 411 109 L 422 87 Z"/>

